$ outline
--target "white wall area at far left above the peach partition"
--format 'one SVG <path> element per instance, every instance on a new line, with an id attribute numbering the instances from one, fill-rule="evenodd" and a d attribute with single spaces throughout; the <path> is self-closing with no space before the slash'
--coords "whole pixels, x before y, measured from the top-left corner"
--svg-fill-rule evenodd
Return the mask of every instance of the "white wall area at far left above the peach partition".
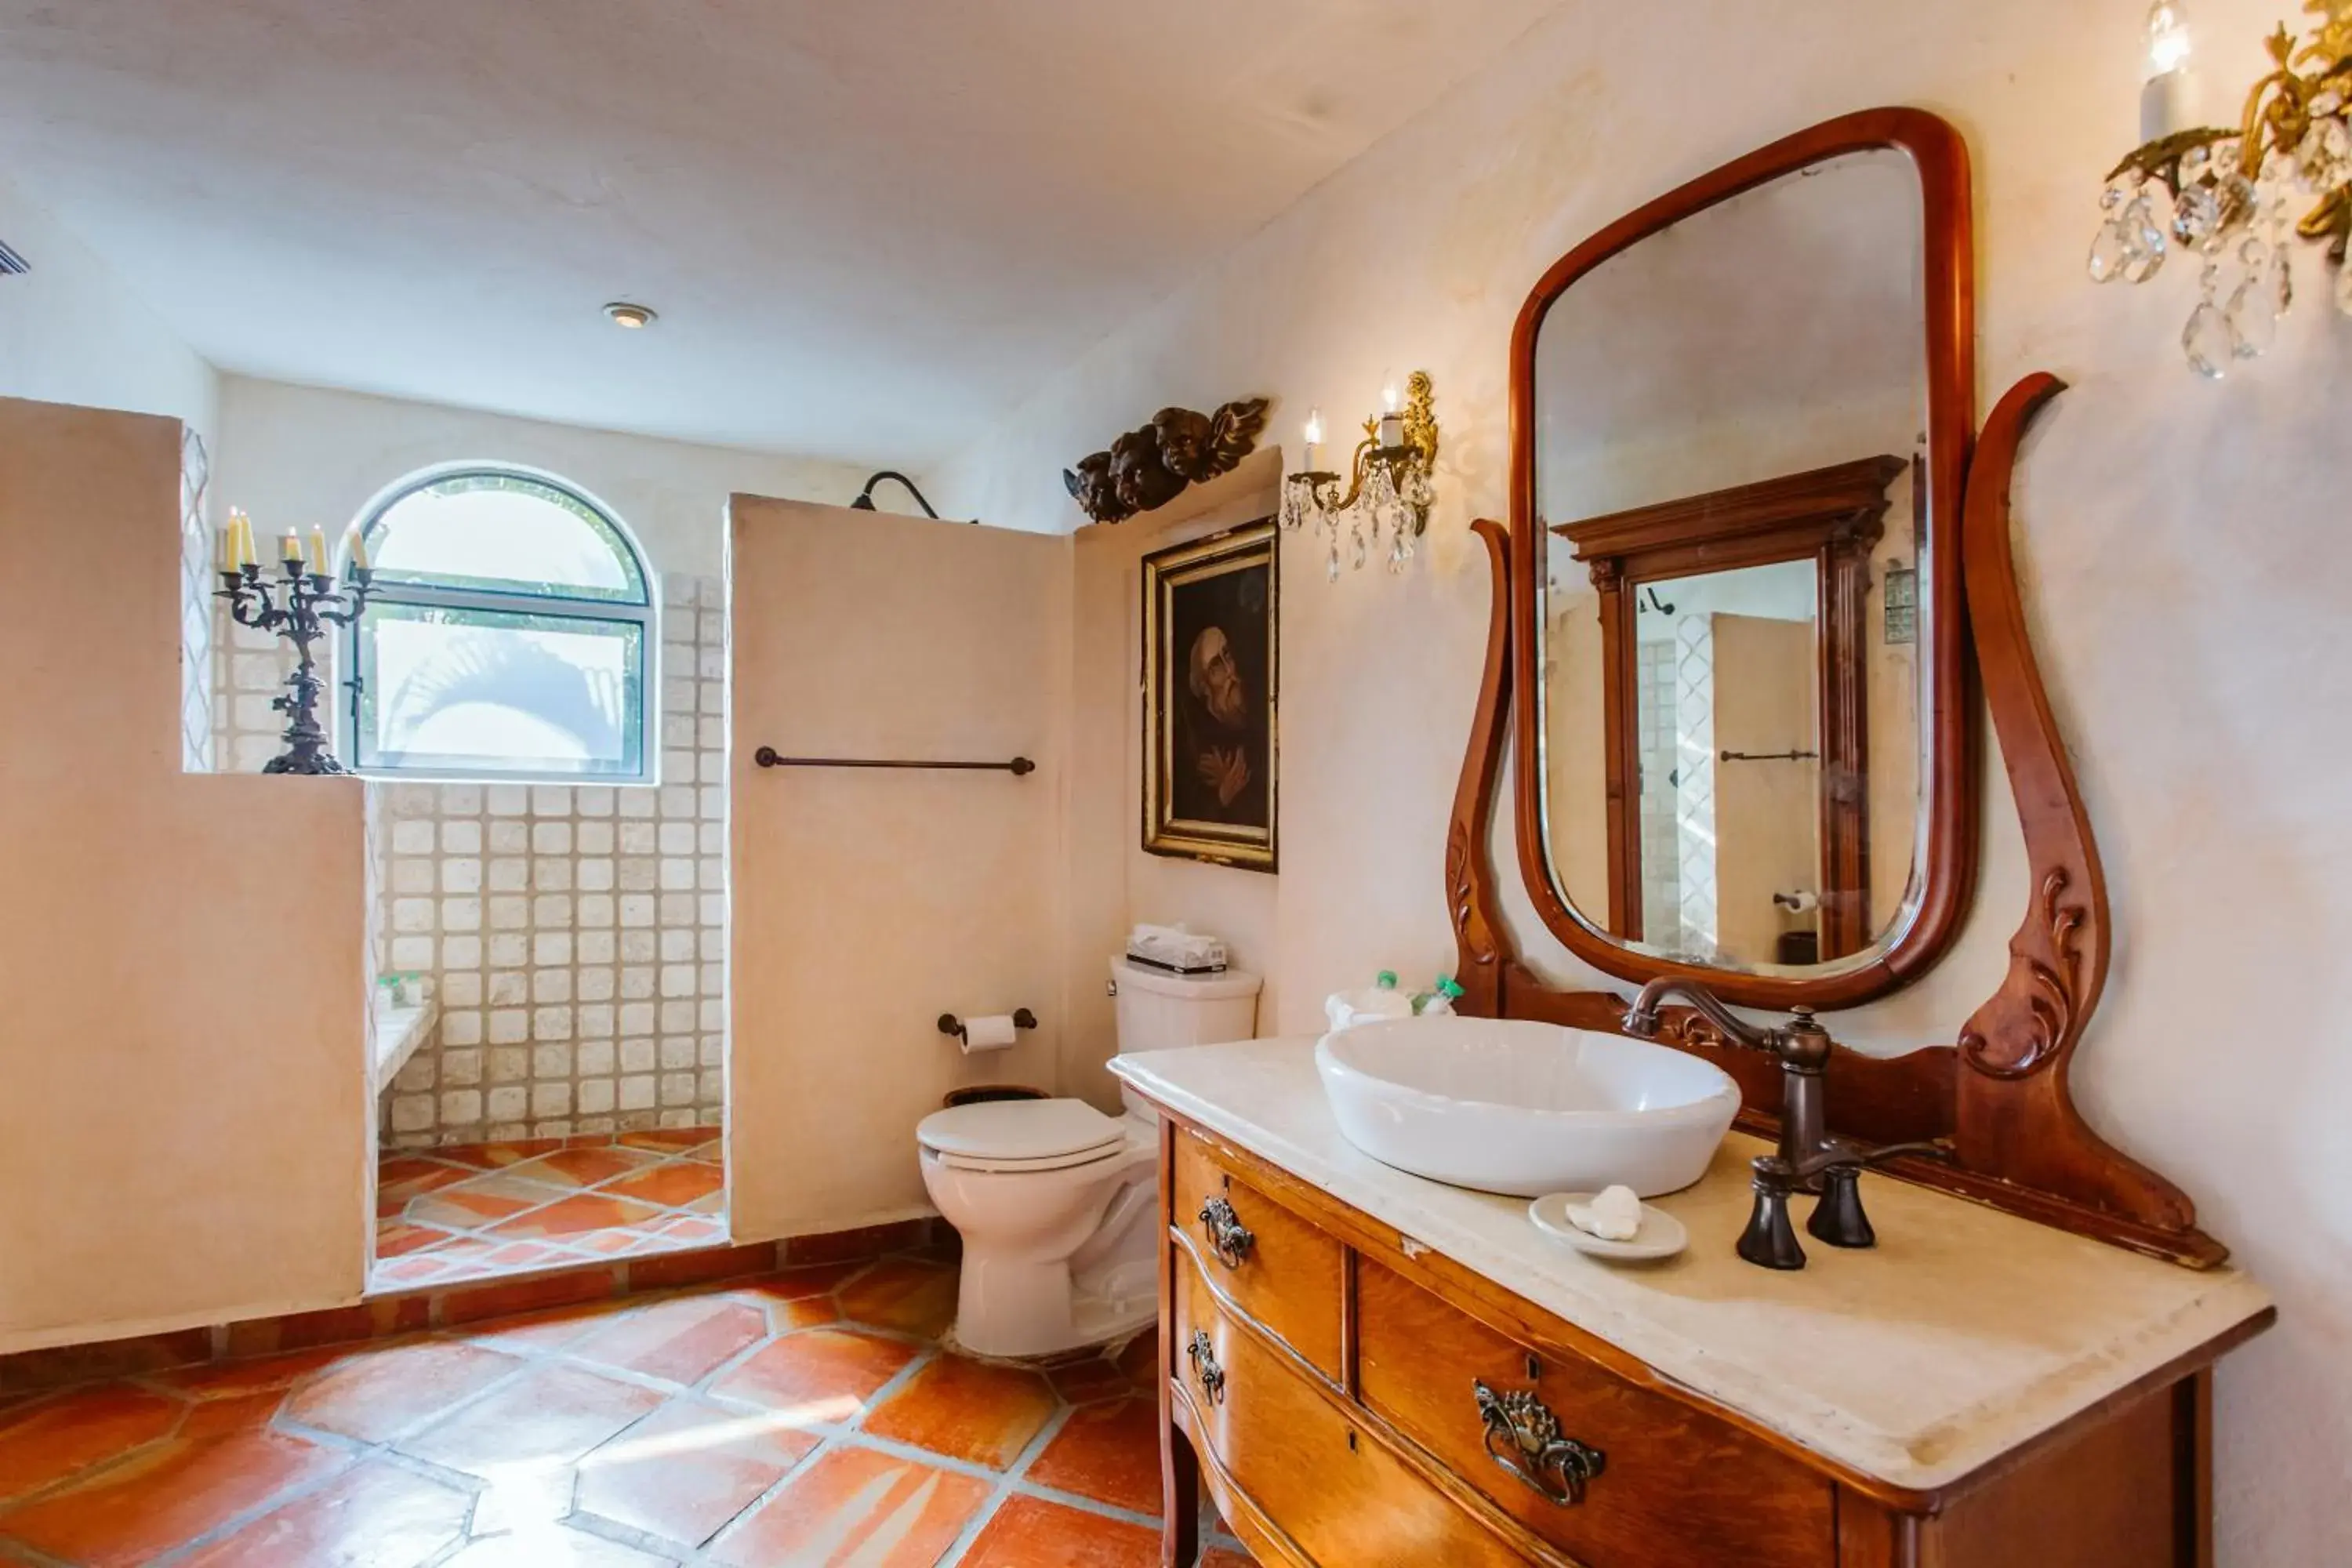
<path id="1" fill-rule="evenodd" d="M 122 277 L 0 179 L 0 240 L 31 263 L 0 277 L 0 397 L 167 414 L 207 444 L 219 376 Z"/>

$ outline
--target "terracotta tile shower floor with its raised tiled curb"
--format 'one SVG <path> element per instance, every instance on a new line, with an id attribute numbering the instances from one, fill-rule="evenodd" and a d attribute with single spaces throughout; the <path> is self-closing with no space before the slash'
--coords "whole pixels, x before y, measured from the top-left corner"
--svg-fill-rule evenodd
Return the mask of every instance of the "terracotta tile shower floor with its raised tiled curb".
<path id="1" fill-rule="evenodd" d="M 414 1291 L 724 1239 L 715 1126 L 386 1152 L 367 1284 Z"/>

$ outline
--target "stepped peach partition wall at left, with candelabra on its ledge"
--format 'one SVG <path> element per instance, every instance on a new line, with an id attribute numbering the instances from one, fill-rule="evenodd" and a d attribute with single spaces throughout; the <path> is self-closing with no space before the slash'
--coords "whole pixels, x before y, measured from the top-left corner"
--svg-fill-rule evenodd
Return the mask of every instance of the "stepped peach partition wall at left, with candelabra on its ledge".
<path id="1" fill-rule="evenodd" d="M 0 1352 L 350 1300 L 346 778 L 181 773 L 179 423 L 0 400 Z"/>

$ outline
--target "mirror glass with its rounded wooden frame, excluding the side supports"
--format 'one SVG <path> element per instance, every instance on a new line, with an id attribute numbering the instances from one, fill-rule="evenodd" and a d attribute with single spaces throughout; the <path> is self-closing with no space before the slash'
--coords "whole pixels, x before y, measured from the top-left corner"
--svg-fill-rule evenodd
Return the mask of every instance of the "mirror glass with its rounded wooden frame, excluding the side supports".
<path id="1" fill-rule="evenodd" d="M 1519 856 L 1597 969 L 1893 990 L 1976 842 L 1966 155 L 1879 110 L 1613 223 L 1512 341 Z"/>

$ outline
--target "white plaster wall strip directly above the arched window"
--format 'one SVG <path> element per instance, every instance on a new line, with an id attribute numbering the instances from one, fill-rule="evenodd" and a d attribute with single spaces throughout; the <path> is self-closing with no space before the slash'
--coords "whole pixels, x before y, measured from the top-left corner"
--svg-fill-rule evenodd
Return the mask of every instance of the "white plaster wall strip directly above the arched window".
<path id="1" fill-rule="evenodd" d="M 221 378 L 219 458 L 212 494 L 223 515 L 242 505 L 256 534 L 325 527 L 329 538 L 341 536 L 381 489 L 419 468 L 461 461 L 543 468 L 609 505 L 654 571 L 694 576 L 717 576 L 724 567 L 729 494 L 847 503 L 866 482 L 866 470 L 847 463 L 249 376 Z M 882 505 L 901 501 L 896 487 L 882 496 Z"/>

